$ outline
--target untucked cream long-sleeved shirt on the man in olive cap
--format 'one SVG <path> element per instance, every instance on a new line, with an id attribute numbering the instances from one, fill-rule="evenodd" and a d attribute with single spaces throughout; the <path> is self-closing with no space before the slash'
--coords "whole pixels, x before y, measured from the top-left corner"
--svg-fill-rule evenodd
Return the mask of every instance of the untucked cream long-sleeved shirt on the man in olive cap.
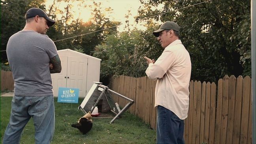
<path id="1" fill-rule="evenodd" d="M 149 64 L 146 74 L 157 79 L 154 106 L 161 105 L 184 120 L 188 116 L 191 62 L 181 40 L 169 44 L 156 62 Z"/>

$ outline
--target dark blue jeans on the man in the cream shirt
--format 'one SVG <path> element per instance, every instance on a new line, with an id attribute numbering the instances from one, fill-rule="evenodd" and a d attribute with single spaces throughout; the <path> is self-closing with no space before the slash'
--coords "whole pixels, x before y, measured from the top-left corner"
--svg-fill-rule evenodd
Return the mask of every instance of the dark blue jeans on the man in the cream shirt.
<path id="1" fill-rule="evenodd" d="M 157 144 L 184 144 L 184 122 L 171 110 L 157 106 Z"/>

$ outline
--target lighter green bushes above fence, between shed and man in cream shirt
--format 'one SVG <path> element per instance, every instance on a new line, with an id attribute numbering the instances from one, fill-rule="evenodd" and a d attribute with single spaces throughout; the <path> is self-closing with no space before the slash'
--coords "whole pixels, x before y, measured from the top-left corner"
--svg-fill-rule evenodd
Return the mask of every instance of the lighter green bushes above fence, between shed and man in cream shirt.
<path id="1" fill-rule="evenodd" d="M 111 35 L 97 45 L 93 56 L 102 59 L 100 81 L 113 75 L 145 76 L 147 64 L 143 57 L 156 60 L 164 50 L 152 35 L 155 29 L 156 25 L 148 22 L 146 31 L 134 29 Z"/>

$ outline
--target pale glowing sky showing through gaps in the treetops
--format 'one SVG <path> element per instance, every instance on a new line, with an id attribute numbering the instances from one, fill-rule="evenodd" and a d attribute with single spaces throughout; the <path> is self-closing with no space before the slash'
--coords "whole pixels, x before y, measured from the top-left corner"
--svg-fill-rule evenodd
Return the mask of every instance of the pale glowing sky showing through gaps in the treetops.
<path id="1" fill-rule="evenodd" d="M 46 8 L 49 9 L 53 2 L 53 0 L 46 0 Z M 139 0 L 86 0 L 84 1 L 83 6 L 79 5 L 81 4 L 81 1 L 74 1 L 72 3 L 69 3 L 72 5 L 72 8 L 69 10 L 73 15 L 73 19 L 71 19 L 69 22 L 75 21 L 76 19 L 81 19 L 83 22 L 88 22 L 90 19 L 92 19 L 93 16 L 91 13 L 94 9 L 93 2 L 101 3 L 101 7 L 103 9 L 108 7 L 111 7 L 111 9 L 113 9 L 112 13 L 104 13 L 104 11 L 102 12 L 105 14 L 107 18 L 109 18 L 110 21 L 121 22 L 120 26 L 118 27 L 119 32 L 124 31 L 126 20 L 129 21 L 131 29 L 145 29 L 145 27 L 143 26 L 143 22 L 139 22 L 139 24 L 137 24 L 134 19 L 134 17 L 137 15 L 137 10 L 139 6 L 142 5 L 139 2 Z M 60 9 L 61 11 L 66 11 L 64 7 L 66 7 L 67 5 L 67 2 L 61 1 L 56 4 L 56 7 L 58 7 L 58 9 Z M 130 11 L 131 15 L 129 16 L 128 19 L 126 19 L 125 15 L 128 14 L 128 11 Z M 62 15 L 60 13 L 56 13 L 57 19 L 60 19 Z"/>

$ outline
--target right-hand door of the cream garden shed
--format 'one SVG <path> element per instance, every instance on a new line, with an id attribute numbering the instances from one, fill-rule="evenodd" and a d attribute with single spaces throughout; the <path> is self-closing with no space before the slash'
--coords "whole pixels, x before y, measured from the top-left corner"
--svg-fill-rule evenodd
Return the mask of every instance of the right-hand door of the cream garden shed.
<path id="1" fill-rule="evenodd" d="M 68 57 L 67 88 L 79 88 L 79 96 L 86 96 L 88 58 Z"/>

